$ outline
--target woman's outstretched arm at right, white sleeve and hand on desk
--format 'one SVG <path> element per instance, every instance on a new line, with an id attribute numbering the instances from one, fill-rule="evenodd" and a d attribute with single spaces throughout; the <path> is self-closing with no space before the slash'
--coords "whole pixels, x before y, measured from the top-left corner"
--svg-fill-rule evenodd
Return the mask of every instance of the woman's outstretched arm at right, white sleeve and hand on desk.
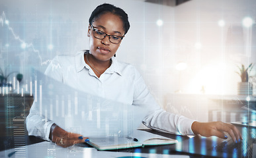
<path id="1" fill-rule="evenodd" d="M 232 124 L 224 122 L 196 122 L 164 111 L 149 93 L 142 77 L 140 75 L 137 76 L 134 84 L 134 105 L 150 109 L 150 113 L 143 120 L 143 123 L 149 128 L 183 135 L 200 134 L 202 136 L 218 136 L 220 138 L 226 138 L 227 136 L 224 132 L 227 132 L 234 142 L 239 142 L 242 139 L 241 133 Z"/>

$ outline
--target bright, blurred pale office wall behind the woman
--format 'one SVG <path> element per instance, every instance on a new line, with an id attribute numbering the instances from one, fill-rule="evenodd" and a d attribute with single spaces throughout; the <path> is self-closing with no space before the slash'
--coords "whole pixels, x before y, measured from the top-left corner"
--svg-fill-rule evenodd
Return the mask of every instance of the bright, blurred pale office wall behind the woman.
<path id="1" fill-rule="evenodd" d="M 143 0 L 5 0 L 0 67 L 23 74 L 26 93 L 31 67 L 44 72 L 56 55 L 88 49 L 89 16 L 105 2 L 124 9 L 131 24 L 116 58 L 138 68 L 167 111 L 207 121 L 208 96 L 236 95 L 237 65 L 256 63 L 254 0 L 191 0 L 176 7 Z"/>

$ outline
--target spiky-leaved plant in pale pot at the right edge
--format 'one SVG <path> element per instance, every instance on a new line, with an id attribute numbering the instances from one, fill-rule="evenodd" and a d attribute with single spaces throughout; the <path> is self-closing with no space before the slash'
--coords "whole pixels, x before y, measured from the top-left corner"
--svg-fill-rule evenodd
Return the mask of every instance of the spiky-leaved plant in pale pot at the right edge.
<path id="1" fill-rule="evenodd" d="M 249 82 L 249 72 L 253 68 L 253 63 L 251 63 L 247 68 L 242 64 L 239 68 L 239 74 L 241 82 L 237 84 L 237 93 L 238 95 L 252 95 L 253 94 L 253 85 Z"/>

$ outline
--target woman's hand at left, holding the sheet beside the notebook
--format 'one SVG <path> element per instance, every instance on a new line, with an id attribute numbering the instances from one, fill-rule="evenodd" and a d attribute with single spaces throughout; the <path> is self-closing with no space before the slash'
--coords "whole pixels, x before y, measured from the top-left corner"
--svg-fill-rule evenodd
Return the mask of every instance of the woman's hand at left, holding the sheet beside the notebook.
<path id="1" fill-rule="evenodd" d="M 87 137 L 83 137 L 81 134 L 67 132 L 59 126 L 56 126 L 52 131 L 52 142 L 62 147 L 69 147 L 74 144 L 84 143 L 85 140 L 89 139 Z"/>

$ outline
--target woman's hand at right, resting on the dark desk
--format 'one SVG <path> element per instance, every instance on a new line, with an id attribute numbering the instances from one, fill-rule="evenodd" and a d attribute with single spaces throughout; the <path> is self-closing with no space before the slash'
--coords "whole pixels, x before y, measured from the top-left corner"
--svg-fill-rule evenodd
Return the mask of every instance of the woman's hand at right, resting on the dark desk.
<path id="1" fill-rule="evenodd" d="M 218 136 L 219 138 L 228 138 L 224 132 L 227 132 L 234 142 L 240 142 L 242 140 L 241 133 L 233 124 L 224 122 L 193 122 L 192 131 L 194 134 L 200 134 L 201 136 Z"/>

